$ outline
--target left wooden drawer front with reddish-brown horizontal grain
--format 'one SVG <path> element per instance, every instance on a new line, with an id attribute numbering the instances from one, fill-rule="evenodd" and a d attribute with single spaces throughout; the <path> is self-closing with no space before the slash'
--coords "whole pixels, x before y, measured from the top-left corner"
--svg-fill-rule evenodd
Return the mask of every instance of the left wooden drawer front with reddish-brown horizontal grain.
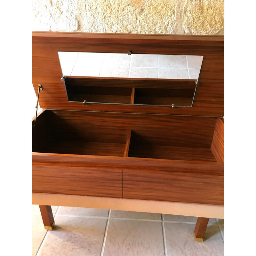
<path id="1" fill-rule="evenodd" d="M 32 192 L 122 198 L 122 170 L 32 165 Z"/>

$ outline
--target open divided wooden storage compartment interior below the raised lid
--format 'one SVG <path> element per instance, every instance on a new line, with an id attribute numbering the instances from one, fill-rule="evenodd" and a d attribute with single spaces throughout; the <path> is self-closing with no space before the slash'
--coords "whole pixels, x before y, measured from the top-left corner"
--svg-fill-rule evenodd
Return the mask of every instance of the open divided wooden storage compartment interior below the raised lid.
<path id="1" fill-rule="evenodd" d="M 36 120 L 33 152 L 217 162 L 215 117 L 45 110 Z"/>

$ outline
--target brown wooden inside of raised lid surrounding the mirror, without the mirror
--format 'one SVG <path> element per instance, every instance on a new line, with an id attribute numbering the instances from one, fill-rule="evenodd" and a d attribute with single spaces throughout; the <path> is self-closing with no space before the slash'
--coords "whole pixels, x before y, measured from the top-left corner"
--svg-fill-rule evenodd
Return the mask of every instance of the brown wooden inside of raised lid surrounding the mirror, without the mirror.
<path id="1" fill-rule="evenodd" d="M 32 33 L 32 83 L 44 90 L 39 104 L 47 109 L 76 109 L 108 112 L 156 113 L 197 116 L 224 116 L 224 37 L 179 35 L 126 35 L 64 32 Z M 58 51 L 145 54 L 203 55 L 200 86 L 192 108 L 88 104 L 68 102 L 60 81 Z M 58 99 L 58 100 L 56 100 Z"/>

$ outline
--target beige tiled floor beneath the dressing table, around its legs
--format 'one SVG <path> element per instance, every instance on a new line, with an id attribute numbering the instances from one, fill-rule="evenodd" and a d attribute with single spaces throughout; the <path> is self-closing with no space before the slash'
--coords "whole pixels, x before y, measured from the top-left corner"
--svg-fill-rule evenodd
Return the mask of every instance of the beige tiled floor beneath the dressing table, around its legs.
<path id="1" fill-rule="evenodd" d="M 204 242 L 195 242 L 196 217 L 52 206 L 55 228 L 45 230 L 32 208 L 32 255 L 219 256 L 224 220 L 210 219 Z"/>

